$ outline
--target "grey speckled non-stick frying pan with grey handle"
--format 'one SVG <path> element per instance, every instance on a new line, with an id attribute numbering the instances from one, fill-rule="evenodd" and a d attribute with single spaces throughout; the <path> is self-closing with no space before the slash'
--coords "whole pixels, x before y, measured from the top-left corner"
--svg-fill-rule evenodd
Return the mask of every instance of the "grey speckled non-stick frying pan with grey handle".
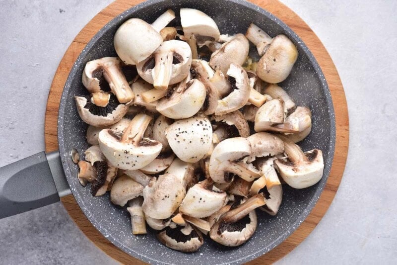
<path id="1" fill-rule="evenodd" d="M 270 36 L 287 35 L 297 46 L 298 60 L 288 77 L 281 83 L 297 105 L 312 110 L 313 128 L 300 143 L 301 148 L 323 151 L 324 176 L 314 186 L 293 189 L 283 186 L 283 201 L 277 216 L 258 213 L 258 228 L 254 236 L 242 246 L 228 248 L 209 239 L 196 253 L 180 253 L 157 242 L 154 231 L 145 236 L 133 236 L 130 216 L 125 209 L 113 205 L 109 194 L 93 197 L 89 188 L 77 180 L 77 166 L 70 151 L 80 154 L 88 148 L 85 140 L 87 125 L 77 114 L 73 96 L 87 94 L 81 84 L 81 74 L 88 61 L 105 56 L 117 56 L 113 36 L 128 18 L 138 17 L 149 23 L 162 12 L 172 8 L 177 13 L 173 24 L 180 24 L 181 7 L 197 8 L 211 16 L 222 33 L 245 32 L 253 22 Z M 251 47 L 251 55 L 255 55 Z M 309 215 L 327 182 L 334 145 L 335 119 L 331 94 L 325 77 L 303 41 L 282 21 L 264 9 L 243 0 L 148 0 L 123 12 L 105 25 L 87 44 L 74 63 L 67 78 L 58 116 L 59 152 L 41 152 L 0 168 L 0 218 L 38 208 L 59 201 L 60 196 L 73 194 L 92 224 L 114 245 L 142 261 L 156 264 L 241 264 L 264 255 L 284 241 Z M 66 182 L 67 181 L 67 182 Z"/>

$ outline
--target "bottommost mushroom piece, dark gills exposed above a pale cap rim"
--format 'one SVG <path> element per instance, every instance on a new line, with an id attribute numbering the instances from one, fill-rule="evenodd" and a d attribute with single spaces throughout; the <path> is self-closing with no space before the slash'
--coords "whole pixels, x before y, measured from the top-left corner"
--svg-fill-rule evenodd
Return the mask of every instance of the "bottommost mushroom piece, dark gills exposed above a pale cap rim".
<path id="1" fill-rule="evenodd" d="M 190 224 L 167 226 L 156 237 L 166 247 L 182 252 L 195 252 L 204 244 L 200 231 Z"/>

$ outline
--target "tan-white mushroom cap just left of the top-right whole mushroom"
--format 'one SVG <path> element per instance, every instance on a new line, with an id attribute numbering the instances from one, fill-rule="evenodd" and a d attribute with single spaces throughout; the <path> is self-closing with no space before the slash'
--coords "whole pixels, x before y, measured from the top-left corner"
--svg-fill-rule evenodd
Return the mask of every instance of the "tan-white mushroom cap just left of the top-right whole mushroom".
<path id="1" fill-rule="evenodd" d="M 222 44 L 219 50 L 211 55 L 209 65 L 216 71 L 226 74 L 231 64 L 242 66 L 248 56 L 250 44 L 247 38 L 239 33 Z"/>

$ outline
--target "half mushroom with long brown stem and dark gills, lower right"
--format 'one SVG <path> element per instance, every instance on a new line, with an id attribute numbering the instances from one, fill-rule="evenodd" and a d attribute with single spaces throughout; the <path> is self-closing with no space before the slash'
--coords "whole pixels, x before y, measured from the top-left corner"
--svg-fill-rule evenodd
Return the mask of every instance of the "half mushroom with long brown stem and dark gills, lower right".
<path id="1" fill-rule="evenodd" d="M 229 210 L 211 227 L 210 238 L 228 247 L 245 243 L 257 228 L 255 208 L 264 204 L 264 197 L 257 194 Z"/>

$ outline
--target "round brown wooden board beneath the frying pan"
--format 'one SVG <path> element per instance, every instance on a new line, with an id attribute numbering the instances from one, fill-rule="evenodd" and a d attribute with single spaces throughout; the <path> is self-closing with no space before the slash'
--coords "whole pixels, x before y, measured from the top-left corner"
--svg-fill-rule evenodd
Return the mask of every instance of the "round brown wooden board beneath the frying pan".
<path id="1" fill-rule="evenodd" d="M 346 98 L 342 83 L 339 79 L 339 75 L 330 55 L 316 34 L 297 14 L 295 14 L 291 9 L 278 0 L 251 1 L 259 6 L 262 6 L 264 9 L 284 21 L 299 35 L 300 38 L 302 38 L 302 40 L 312 51 L 319 62 L 330 87 L 336 120 L 336 146 L 333 164 L 327 185 L 325 186 L 319 201 L 307 219 L 288 239 L 286 239 L 283 243 L 269 253 L 249 263 L 250 265 L 263 265 L 271 264 L 281 259 L 296 246 L 298 246 L 310 234 L 310 232 L 312 232 L 312 230 L 316 227 L 328 210 L 328 207 L 335 196 L 336 190 L 338 189 L 346 164 L 349 144 L 349 120 Z M 132 7 L 133 5 L 138 4 L 139 2 L 141 2 L 141 0 L 116 0 L 115 2 L 111 3 L 98 13 L 80 31 L 80 33 L 70 44 L 57 69 L 57 72 L 55 73 L 48 96 L 45 120 L 45 142 L 47 152 L 58 149 L 58 108 L 61 101 L 62 90 L 65 86 L 67 76 L 71 67 L 73 66 L 74 61 L 77 59 L 78 55 L 88 41 L 97 33 L 99 29 L 101 29 L 115 16 Z M 106 254 L 124 264 L 144 264 L 143 262 L 124 253 L 110 243 L 105 237 L 103 237 L 85 217 L 72 195 L 63 197 L 61 200 L 77 226 L 96 246 L 102 249 Z"/>

